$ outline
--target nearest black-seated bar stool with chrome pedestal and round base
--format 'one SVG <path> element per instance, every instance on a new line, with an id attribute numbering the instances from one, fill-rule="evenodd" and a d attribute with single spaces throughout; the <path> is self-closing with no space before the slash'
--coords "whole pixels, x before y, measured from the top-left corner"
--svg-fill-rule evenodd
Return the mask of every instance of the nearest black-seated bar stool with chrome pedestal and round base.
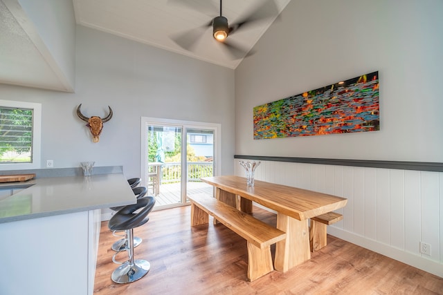
<path id="1" fill-rule="evenodd" d="M 129 241 L 129 249 L 127 251 L 129 260 L 117 267 L 111 274 L 111 279 L 115 283 L 132 283 L 150 271 L 151 265 L 147 260 L 134 260 L 133 236 L 134 228 L 144 225 L 150 219 L 147 215 L 154 207 L 154 204 L 155 198 L 152 196 L 137 199 L 137 204 L 123 207 L 108 222 L 108 227 L 111 231 L 127 231 L 127 240 Z"/>

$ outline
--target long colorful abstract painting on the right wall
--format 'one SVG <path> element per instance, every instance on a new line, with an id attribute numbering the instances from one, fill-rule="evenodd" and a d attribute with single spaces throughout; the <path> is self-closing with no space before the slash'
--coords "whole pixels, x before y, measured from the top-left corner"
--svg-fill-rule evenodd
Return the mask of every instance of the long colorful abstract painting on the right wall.
<path id="1" fill-rule="evenodd" d="M 379 72 L 255 106 L 254 139 L 378 131 Z"/>

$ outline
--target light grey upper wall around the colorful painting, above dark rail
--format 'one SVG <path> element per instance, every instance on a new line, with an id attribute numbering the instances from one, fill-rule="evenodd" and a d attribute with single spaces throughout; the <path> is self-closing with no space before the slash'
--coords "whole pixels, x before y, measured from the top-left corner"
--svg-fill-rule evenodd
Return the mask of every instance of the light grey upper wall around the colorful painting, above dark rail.
<path id="1" fill-rule="evenodd" d="M 297 0 L 235 70 L 239 155 L 443 162 L 443 1 Z M 380 131 L 253 140 L 253 107 L 379 70 Z"/>

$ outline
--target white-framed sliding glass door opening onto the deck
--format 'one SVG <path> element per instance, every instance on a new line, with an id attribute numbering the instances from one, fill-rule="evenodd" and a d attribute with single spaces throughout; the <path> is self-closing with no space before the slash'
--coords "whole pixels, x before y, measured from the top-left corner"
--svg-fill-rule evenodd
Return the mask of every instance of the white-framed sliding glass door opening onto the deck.
<path id="1" fill-rule="evenodd" d="M 141 178 L 156 209 L 186 204 L 189 193 L 213 193 L 200 178 L 219 174 L 219 124 L 142 117 Z"/>

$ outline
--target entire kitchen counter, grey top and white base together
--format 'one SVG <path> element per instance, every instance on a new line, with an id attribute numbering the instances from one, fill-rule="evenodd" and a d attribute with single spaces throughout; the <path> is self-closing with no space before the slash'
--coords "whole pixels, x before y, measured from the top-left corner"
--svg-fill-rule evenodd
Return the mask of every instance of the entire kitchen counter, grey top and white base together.
<path id="1" fill-rule="evenodd" d="M 134 204 L 123 174 L 37 178 L 0 200 L 0 294 L 93 294 L 100 209 Z"/>

